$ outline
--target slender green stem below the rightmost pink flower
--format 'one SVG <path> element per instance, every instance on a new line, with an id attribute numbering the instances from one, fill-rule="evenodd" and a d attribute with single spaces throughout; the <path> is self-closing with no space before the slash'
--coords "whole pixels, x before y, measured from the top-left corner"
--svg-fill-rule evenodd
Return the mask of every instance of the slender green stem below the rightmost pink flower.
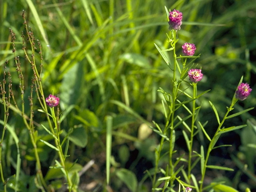
<path id="1" fill-rule="evenodd" d="M 219 133 L 219 131 L 220 131 L 220 128 L 222 127 L 224 121 L 226 120 L 226 117 L 228 116 L 228 113 L 232 110 L 232 107 L 234 106 L 234 104 L 235 104 L 235 102 L 234 102 L 234 103 L 232 102 L 232 104 L 231 104 L 230 107 L 228 108 L 228 111 L 226 112 L 224 118 L 222 119 L 222 122 L 219 124 L 218 129 L 216 130 L 216 132 L 215 132 L 215 134 L 214 134 L 214 136 L 213 136 L 213 138 L 212 138 L 212 140 L 211 140 L 211 142 L 210 142 L 210 144 L 209 144 L 209 146 L 208 146 L 206 158 L 205 158 L 205 161 L 204 161 L 204 169 L 203 169 L 203 172 L 202 172 L 202 179 L 201 179 L 200 190 L 199 190 L 200 192 L 202 192 L 203 182 L 204 182 L 204 176 L 205 176 L 205 172 L 206 172 L 206 165 L 207 165 L 207 162 L 208 162 L 208 158 L 209 158 L 209 156 L 210 156 L 210 152 L 211 152 L 212 147 L 213 147 L 213 146 L 212 146 L 212 145 L 213 145 L 213 142 L 214 142 L 216 136 L 218 135 L 218 133 Z"/>

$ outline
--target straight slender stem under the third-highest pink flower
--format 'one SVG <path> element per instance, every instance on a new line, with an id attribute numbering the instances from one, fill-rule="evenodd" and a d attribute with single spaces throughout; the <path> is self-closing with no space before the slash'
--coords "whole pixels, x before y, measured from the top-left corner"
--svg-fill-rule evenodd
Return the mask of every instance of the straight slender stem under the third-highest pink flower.
<path id="1" fill-rule="evenodd" d="M 193 84 L 193 99 L 196 98 L 196 83 Z M 190 146 L 189 146 L 189 154 L 188 154 L 188 179 L 190 180 L 191 176 L 191 157 L 192 157 L 192 145 L 193 145 L 193 137 L 194 137 L 194 122 L 195 122 L 195 108 L 196 108 L 196 100 L 192 101 L 192 122 L 191 122 L 191 133 L 190 133 Z"/>

